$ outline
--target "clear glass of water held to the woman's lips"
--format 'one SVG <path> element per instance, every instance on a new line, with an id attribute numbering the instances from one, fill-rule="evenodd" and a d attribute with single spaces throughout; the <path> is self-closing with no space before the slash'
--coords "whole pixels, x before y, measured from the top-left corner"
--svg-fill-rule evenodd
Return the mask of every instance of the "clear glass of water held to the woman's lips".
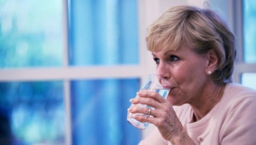
<path id="1" fill-rule="evenodd" d="M 156 74 L 150 74 L 143 85 L 141 86 L 139 91 L 147 90 L 147 91 L 156 91 L 160 95 L 162 95 L 164 98 L 167 97 L 169 91 L 170 91 L 170 83 L 163 77 L 158 76 Z M 137 97 L 137 96 L 136 96 Z M 130 107 L 139 106 L 139 107 L 149 107 L 151 109 L 151 106 L 145 105 L 145 104 L 131 104 Z M 139 128 L 139 129 L 146 129 L 149 125 L 148 122 L 140 122 L 136 120 L 133 116 L 134 115 L 148 115 L 143 113 L 131 113 L 128 111 L 127 113 L 127 121 L 131 123 L 133 126 Z"/>

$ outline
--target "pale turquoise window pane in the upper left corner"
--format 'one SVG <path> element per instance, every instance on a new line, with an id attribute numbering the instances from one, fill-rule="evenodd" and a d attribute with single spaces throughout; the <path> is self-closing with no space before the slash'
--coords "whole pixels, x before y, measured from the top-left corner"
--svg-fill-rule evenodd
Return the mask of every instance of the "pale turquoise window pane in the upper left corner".
<path id="1" fill-rule="evenodd" d="M 0 68 L 59 66 L 62 0 L 1 0 Z"/>

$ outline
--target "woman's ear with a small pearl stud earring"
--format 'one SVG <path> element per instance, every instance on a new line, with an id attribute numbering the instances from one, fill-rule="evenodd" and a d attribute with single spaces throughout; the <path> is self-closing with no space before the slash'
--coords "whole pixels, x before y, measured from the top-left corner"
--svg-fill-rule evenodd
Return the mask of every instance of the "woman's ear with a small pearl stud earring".
<path id="1" fill-rule="evenodd" d="M 211 74 L 215 71 L 219 62 L 217 52 L 214 49 L 211 49 L 207 52 L 207 66 L 205 69 L 206 74 Z"/>

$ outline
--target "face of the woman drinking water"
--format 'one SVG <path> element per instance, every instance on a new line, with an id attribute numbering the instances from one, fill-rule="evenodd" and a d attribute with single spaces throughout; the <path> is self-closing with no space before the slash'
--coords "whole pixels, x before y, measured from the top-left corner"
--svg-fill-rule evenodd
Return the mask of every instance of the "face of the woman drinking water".
<path id="1" fill-rule="evenodd" d="M 209 79 L 205 73 L 208 64 L 206 56 L 196 54 L 187 45 L 175 51 L 164 49 L 152 54 L 157 74 L 172 85 L 167 99 L 173 105 L 195 103 L 200 99 Z"/>

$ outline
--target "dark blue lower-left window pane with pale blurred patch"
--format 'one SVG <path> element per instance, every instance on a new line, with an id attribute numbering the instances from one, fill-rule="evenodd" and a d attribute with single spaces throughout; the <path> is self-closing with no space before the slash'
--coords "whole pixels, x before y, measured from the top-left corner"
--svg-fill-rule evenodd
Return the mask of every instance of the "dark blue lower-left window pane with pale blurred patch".
<path id="1" fill-rule="evenodd" d="M 65 144 L 61 81 L 0 82 L 0 96 L 0 144 Z"/>

